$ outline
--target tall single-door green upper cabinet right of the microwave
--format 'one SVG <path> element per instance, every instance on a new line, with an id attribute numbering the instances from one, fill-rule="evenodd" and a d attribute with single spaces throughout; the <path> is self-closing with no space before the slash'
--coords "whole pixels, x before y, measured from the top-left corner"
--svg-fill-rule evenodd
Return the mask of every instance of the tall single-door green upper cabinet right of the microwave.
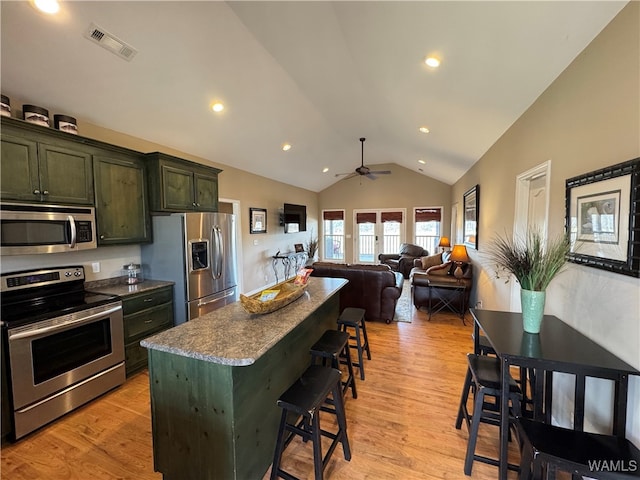
<path id="1" fill-rule="evenodd" d="M 136 152 L 93 156 L 98 245 L 151 241 L 145 162 Z"/>

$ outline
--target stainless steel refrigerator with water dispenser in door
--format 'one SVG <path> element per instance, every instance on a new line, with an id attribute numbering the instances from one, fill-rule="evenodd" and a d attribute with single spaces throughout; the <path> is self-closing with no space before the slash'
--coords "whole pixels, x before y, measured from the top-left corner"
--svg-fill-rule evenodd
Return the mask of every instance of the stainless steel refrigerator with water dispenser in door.
<path id="1" fill-rule="evenodd" d="M 228 213 L 153 217 L 142 264 L 149 278 L 175 282 L 176 325 L 238 300 L 235 221 Z"/>

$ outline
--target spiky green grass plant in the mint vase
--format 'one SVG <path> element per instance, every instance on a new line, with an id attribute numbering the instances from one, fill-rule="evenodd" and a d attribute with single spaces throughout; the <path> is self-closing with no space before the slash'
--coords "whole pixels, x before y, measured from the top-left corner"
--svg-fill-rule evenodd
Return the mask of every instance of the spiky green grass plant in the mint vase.
<path id="1" fill-rule="evenodd" d="M 524 238 L 496 236 L 486 256 L 498 270 L 512 273 L 525 290 L 542 292 L 563 270 L 569 252 L 567 235 L 550 240 L 545 248 L 541 233 L 534 229 Z"/>

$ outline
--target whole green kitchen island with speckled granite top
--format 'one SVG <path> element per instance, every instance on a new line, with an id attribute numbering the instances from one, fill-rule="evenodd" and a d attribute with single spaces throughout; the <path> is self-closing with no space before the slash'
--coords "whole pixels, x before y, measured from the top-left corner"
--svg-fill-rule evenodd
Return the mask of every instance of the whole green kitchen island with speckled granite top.
<path id="1" fill-rule="evenodd" d="M 165 480 L 260 479 L 271 464 L 276 401 L 336 328 L 344 279 L 311 277 L 290 305 L 251 315 L 240 302 L 141 345 L 149 349 L 154 468 Z"/>

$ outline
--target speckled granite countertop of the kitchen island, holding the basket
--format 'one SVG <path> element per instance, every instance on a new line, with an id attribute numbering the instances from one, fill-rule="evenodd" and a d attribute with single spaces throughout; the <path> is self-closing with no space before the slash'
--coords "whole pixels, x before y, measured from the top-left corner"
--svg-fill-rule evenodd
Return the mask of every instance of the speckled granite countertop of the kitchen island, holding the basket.
<path id="1" fill-rule="evenodd" d="M 235 302 L 140 345 L 222 365 L 251 365 L 346 284 L 343 278 L 310 277 L 304 295 L 273 313 L 250 314 Z"/>

